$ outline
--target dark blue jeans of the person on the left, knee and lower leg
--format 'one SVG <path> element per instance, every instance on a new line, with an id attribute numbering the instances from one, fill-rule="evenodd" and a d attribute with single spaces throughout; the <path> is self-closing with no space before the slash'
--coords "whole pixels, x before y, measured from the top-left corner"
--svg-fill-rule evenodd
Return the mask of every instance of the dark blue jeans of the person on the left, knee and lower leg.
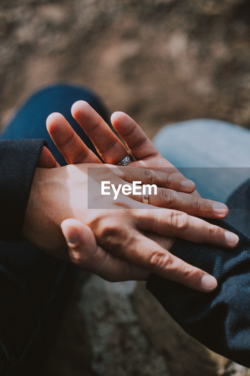
<path id="1" fill-rule="evenodd" d="M 44 138 L 60 165 L 66 161 L 51 140 L 45 121 L 60 112 L 84 143 L 94 147 L 71 115 L 86 100 L 107 120 L 104 106 L 88 89 L 55 85 L 36 92 L 2 133 L 4 139 Z M 69 300 L 76 270 L 27 242 L 0 242 L 0 374 L 38 375 L 48 359 Z"/>

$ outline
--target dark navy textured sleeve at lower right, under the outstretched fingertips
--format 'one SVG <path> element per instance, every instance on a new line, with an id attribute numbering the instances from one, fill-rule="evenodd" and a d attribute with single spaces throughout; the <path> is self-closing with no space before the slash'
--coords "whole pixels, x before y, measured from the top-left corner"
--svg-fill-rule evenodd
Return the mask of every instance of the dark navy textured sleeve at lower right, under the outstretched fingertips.
<path id="1" fill-rule="evenodd" d="M 147 288 L 173 319 L 206 347 L 250 367 L 250 239 L 224 221 L 209 220 L 239 236 L 235 249 L 177 240 L 171 253 L 218 280 L 201 293 L 151 274 Z"/>

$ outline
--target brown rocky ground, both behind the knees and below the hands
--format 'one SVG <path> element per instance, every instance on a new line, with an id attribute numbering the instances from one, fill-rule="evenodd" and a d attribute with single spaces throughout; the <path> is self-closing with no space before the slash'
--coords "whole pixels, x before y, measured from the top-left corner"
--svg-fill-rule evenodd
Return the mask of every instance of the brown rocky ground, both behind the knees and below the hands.
<path id="1" fill-rule="evenodd" d="M 196 117 L 250 127 L 248 0 L 1 0 L 0 127 L 36 88 L 90 86 L 152 137 Z M 249 375 L 188 337 L 144 284 L 79 282 L 47 375 Z"/>

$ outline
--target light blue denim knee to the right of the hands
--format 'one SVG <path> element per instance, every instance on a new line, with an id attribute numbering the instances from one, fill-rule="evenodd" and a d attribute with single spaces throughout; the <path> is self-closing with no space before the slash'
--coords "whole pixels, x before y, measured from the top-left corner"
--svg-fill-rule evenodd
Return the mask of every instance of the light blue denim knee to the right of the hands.
<path id="1" fill-rule="evenodd" d="M 153 142 L 204 198 L 226 202 L 250 178 L 250 131 L 235 124 L 182 121 L 161 129 Z"/>

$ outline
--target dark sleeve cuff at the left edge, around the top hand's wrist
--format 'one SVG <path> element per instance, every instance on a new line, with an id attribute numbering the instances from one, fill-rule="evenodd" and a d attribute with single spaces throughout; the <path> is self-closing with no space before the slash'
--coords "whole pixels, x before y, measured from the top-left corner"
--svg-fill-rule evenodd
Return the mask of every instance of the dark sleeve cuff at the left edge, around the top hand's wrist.
<path id="1" fill-rule="evenodd" d="M 44 145 L 42 139 L 0 140 L 0 240 L 22 240 L 30 188 Z"/>

